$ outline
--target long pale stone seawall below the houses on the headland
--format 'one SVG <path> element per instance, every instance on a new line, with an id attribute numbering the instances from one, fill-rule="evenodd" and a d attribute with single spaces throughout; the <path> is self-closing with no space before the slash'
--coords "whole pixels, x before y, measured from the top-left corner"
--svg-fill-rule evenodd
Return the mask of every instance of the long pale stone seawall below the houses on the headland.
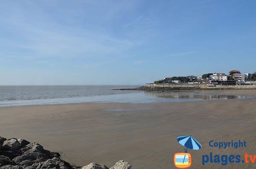
<path id="1" fill-rule="evenodd" d="M 146 83 L 145 87 L 148 88 L 169 88 L 169 89 L 202 89 L 202 90 L 245 90 L 245 89 L 256 89 L 256 85 L 252 86 L 207 86 L 206 84 L 154 84 L 154 83 Z"/>

